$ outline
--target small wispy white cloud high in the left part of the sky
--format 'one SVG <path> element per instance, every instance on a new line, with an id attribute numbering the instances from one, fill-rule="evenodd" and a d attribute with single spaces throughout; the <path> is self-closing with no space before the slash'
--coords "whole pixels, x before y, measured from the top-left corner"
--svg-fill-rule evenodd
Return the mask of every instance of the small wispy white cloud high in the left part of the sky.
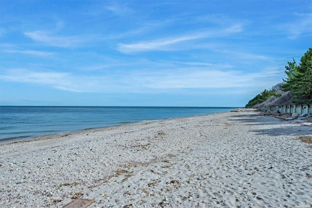
<path id="1" fill-rule="evenodd" d="M 85 42 L 85 38 L 81 36 L 51 36 L 47 32 L 40 30 L 25 32 L 24 35 L 26 35 L 28 38 L 43 42 L 47 45 L 58 47 L 74 47 L 78 46 L 82 42 Z"/>

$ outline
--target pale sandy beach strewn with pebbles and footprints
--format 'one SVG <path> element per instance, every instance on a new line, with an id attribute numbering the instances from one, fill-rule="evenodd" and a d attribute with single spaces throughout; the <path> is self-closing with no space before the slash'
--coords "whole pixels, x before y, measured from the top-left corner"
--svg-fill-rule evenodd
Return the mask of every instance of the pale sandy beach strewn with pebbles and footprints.
<path id="1" fill-rule="evenodd" d="M 254 114 L 0 144 L 0 207 L 312 207 L 312 126 Z"/>

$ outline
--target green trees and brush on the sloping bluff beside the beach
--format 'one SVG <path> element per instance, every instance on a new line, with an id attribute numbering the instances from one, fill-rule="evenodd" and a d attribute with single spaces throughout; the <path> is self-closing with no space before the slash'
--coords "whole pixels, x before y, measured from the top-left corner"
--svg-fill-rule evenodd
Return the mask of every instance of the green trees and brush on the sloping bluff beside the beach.
<path id="1" fill-rule="evenodd" d="M 283 82 L 256 95 L 246 107 L 312 103 L 312 48 L 301 57 L 299 64 L 294 59 L 287 64 L 287 77 Z"/>

